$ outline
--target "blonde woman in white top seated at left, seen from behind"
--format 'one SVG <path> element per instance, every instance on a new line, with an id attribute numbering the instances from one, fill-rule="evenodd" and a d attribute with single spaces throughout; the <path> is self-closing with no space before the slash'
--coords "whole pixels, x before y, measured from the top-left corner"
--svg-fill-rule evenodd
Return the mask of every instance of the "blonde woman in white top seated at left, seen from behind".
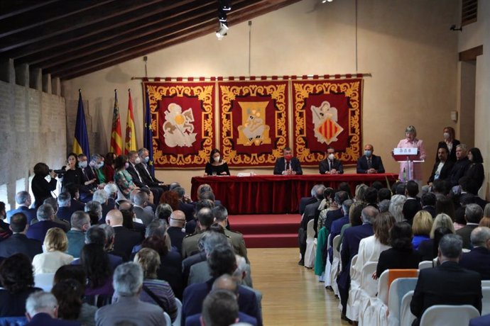
<path id="1" fill-rule="evenodd" d="M 55 273 L 61 266 L 70 264 L 73 256 L 65 254 L 68 239 L 63 230 L 53 227 L 48 230 L 44 239 L 43 254 L 36 254 L 33 259 L 34 274 Z"/>

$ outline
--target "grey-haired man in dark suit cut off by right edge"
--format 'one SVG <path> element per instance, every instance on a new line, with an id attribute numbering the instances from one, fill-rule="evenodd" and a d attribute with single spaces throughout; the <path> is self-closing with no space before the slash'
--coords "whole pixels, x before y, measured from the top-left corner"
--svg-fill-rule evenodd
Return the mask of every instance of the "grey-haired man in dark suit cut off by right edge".
<path id="1" fill-rule="evenodd" d="M 462 255 L 459 266 L 477 271 L 482 280 L 490 280 L 490 228 L 475 228 L 471 240 L 473 249 Z"/>

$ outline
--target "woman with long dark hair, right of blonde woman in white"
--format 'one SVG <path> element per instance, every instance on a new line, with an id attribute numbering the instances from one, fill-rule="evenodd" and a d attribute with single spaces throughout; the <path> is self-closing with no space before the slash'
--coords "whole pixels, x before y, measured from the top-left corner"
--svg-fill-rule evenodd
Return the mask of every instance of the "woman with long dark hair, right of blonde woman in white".
<path id="1" fill-rule="evenodd" d="M 80 265 L 87 274 L 85 296 L 112 296 L 112 267 L 102 245 L 90 243 L 83 246 Z"/>

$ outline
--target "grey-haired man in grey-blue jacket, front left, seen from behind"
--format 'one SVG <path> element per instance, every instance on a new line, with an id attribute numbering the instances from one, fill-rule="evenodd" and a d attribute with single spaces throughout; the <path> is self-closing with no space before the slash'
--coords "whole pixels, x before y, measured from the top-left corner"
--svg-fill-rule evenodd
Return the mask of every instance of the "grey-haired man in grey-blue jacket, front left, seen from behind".
<path id="1" fill-rule="evenodd" d="M 117 266 L 112 285 L 117 300 L 97 310 L 95 313 L 97 325 L 116 325 L 123 321 L 134 322 L 141 326 L 166 325 L 162 308 L 139 300 L 143 288 L 141 266 L 133 262 Z"/>

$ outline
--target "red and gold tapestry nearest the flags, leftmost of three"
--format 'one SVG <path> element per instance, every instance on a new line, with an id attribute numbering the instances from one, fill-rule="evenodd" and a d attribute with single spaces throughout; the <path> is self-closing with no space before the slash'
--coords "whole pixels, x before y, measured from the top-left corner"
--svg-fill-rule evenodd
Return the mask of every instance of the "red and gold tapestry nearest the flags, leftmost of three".
<path id="1" fill-rule="evenodd" d="M 143 82 L 148 89 L 155 167 L 202 168 L 214 148 L 214 82 Z"/>

